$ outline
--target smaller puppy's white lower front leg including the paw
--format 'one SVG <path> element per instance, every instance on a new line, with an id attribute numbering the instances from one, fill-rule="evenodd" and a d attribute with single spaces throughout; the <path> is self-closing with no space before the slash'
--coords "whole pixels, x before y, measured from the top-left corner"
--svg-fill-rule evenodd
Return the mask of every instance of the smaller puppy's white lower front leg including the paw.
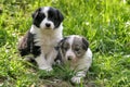
<path id="1" fill-rule="evenodd" d="M 80 84 L 83 77 L 86 77 L 84 71 L 77 72 L 76 76 L 72 77 L 72 82 L 75 84 Z"/>

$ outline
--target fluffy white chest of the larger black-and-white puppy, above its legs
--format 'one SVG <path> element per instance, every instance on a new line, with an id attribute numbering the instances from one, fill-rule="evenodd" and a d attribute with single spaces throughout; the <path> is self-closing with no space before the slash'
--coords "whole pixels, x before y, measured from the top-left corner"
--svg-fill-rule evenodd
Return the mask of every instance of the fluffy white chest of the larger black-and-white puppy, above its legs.
<path id="1" fill-rule="evenodd" d="M 30 33 L 35 34 L 35 45 L 41 47 L 41 51 L 47 54 L 49 53 L 57 42 L 63 38 L 62 25 L 55 29 L 40 29 L 31 26 Z"/>

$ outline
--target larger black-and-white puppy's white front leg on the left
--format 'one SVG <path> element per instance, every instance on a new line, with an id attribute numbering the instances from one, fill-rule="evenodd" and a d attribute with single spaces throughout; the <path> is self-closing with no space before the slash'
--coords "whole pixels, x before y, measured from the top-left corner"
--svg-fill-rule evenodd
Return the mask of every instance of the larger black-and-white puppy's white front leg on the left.
<path id="1" fill-rule="evenodd" d="M 47 60 L 44 59 L 44 54 L 41 53 L 35 60 L 36 60 L 40 70 L 44 70 L 47 72 L 52 71 L 52 67 L 48 64 Z"/>

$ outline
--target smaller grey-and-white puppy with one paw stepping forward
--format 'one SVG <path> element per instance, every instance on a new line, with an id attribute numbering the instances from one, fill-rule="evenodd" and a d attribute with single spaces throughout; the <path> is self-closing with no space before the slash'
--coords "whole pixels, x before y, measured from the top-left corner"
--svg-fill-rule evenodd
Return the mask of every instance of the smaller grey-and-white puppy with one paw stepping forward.
<path id="1" fill-rule="evenodd" d="M 69 64 L 76 71 L 72 82 L 79 84 L 92 63 L 89 42 L 82 36 L 72 35 L 60 41 L 58 50 L 64 64 Z"/>

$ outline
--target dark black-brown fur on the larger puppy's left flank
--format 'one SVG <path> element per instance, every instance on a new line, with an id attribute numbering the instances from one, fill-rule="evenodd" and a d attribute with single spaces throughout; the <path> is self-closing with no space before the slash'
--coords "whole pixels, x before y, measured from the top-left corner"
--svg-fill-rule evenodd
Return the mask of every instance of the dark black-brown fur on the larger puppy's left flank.
<path id="1" fill-rule="evenodd" d="M 34 57 L 40 54 L 40 47 L 35 46 L 34 36 L 35 35 L 28 30 L 22 39 L 22 41 L 20 42 L 18 51 L 22 57 L 27 55 L 29 53 L 34 54 Z"/>

